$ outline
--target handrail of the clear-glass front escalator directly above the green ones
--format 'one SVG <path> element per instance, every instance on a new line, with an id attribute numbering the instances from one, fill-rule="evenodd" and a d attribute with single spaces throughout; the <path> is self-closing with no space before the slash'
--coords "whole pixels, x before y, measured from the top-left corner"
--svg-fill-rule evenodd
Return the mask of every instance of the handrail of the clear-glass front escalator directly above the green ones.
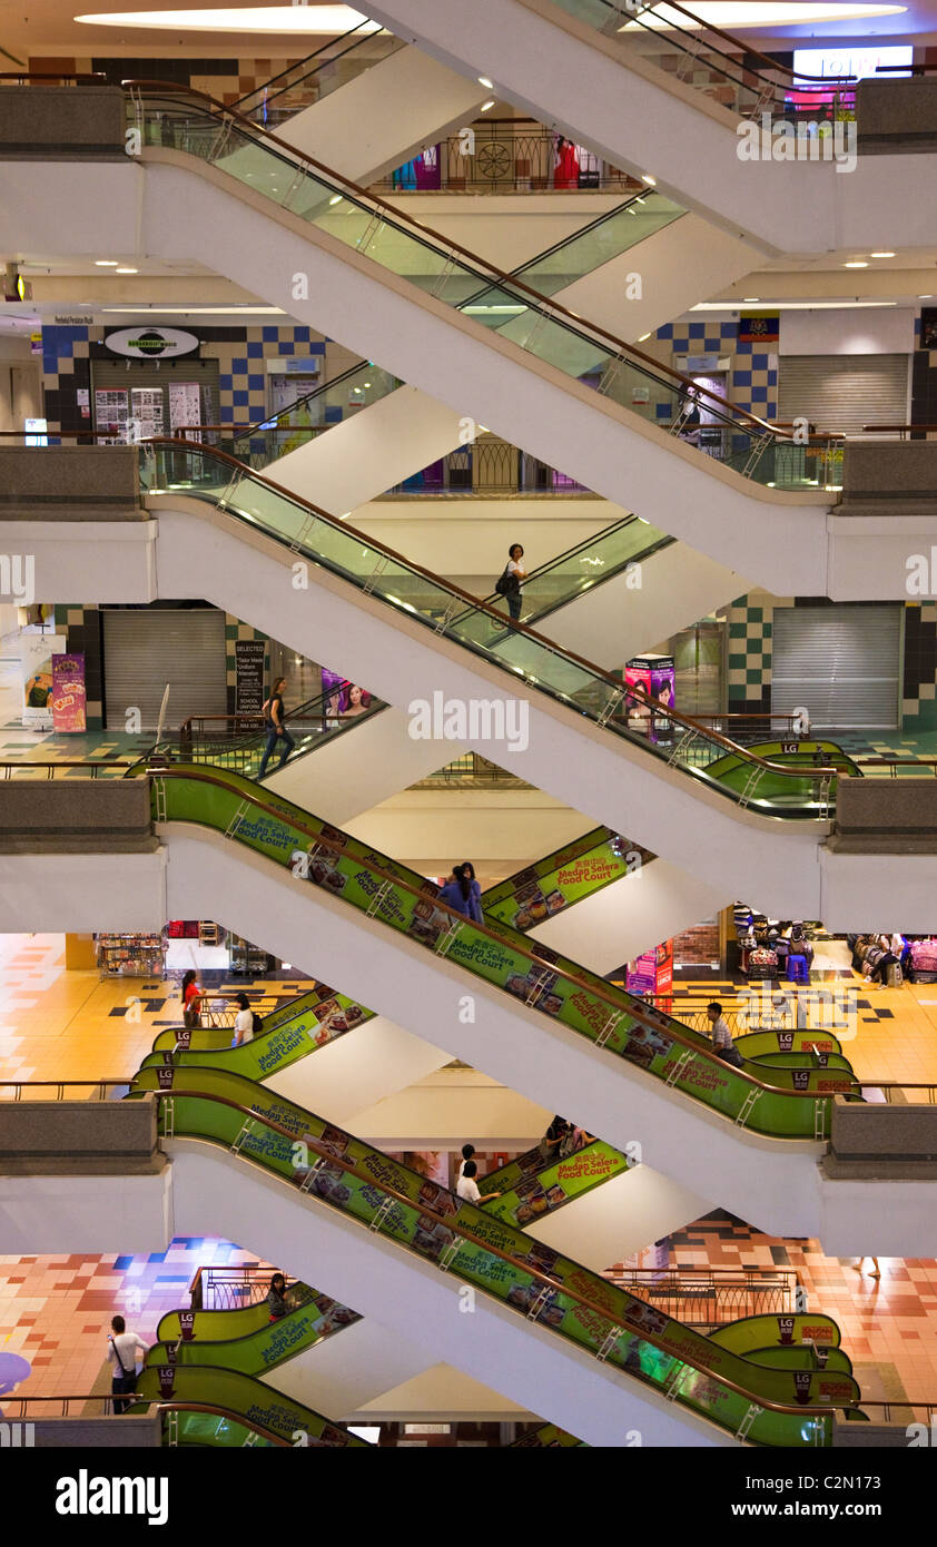
<path id="1" fill-rule="evenodd" d="M 311 515 L 315 515 L 317 520 L 325 521 L 326 526 L 334 528 L 337 532 L 343 532 L 354 538 L 359 538 L 365 548 L 373 549 L 376 554 L 382 554 L 383 557 L 393 560 L 393 563 L 396 565 L 402 565 L 404 569 L 408 569 L 411 574 L 416 574 L 421 579 L 428 580 L 439 591 L 448 591 L 451 596 L 458 597 L 461 602 L 465 603 L 465 611 L 486 613 L 492 619 L 492 622 L 498 625 L 498 628 L 503 630 L 506 627 L 506 619 L 503 613 L 495 611 L 495 608 L 489 606 L 487 602 L 482 602 L 479 597 L 472 596 L 468 591 L 464 591 L 462 586 L 455 583 L 455 580 L 442 580 L 430 569 L 424 569 L 424 566 L 417 565 L 414 560 L 405 558 L 404 554 L 399 554 L 394 548 L 388 548 L 388 545 L 383 543 L 380 538 L 370 537 L 366 532 L 362 532 L 360 528 L 351 526 L 349 521 L 337 521 L 334 515 L 329 515 L 328 511 L 323 511 L 320 506 L 312 504 L 311 500 L 303 498 L 303 495 L 298 495 L 291 489 L 285 489 L 283 484 L 278 484 L 274 478 L 267 478 L 266 473 L 255 472 L 252 467 L 247 467 L 244 463 L 240 463 L 237 456 L 230 456 L 227 452 L 221 452 L 215 446 L 206 447 L 201 444 L 201 441 L 170 439 L 169 436 L 161 436 L 161 435 L 150 436 L 145 442 L 141 444 L 164 446 L 187 453 L 193 452 L 201 456 L 207 455 L 216 461 L 227 463 L 230 467 L 235 469 L 238 476 L 247 480 L 257 480 L 258 483 L 264 484 L 264 487 L 272 489 L 274 493 L 281 495 L 291 504 L 300 506 Z M 167 493 L 158 493 L 156 498 L 164 498 L 164 500 L 173 497 L 182 498 L 186 497 L 186 493 L 187 490 L 182 489 Z M 198 498 L 198 493 L 195 493 L 195 498 Z M 317 558 L 315 554 L 312 554 L 312 557 Z M 699 724 L 699 721 L 693 719 L 690 715 L 683 715 L 673 705 L 660 704 L 657 699 L 649 698 L 637 685 L 631 685 L 626 688 L 626 684 L 618 678 L 612 676 L 611 671 L 606 671 L 605 667 L 595 665 L 594 661 L 586 661 L 586 657 L 577 654 L 575 650 L 569 650 L 564 645 L 558 645 L 554 639 L 547 639 L 546 634 L 541 634 L 537 630 L 530 628 L 529 623 L 518 622 L 513 623 L 512 627 L 520 633 L 526 634 L 535 644 L 543 645 L 546 650 L 549 650 L 560 659 L 571 661 L 574 665 L 581 667 L 584 671 L 589 671 L 594 678 L 601 679 L 606 685 L 612 687 L 615 692 L 625 693 L 626 690 L 631 696 L 640 698 L 666 719 L 673 719 L 677 726 L 683 726 L 687 730 L 693 730 L 697 735 L 705 736 L 707 739 L 716 743 L 716 746 L 722 747 L 727 753 L 741 758 L 744 763 L 751 763 L 768 770 L 770 774 L 796 780 L 823 778 L 824 775 L 836 774 L 836 769 L 819 764 L 815 767 L 810 766 L 804 769 L 792 769 L 782 763 L 772 763 L 765 758 L 761 758 L 756 753 L 748 752 L 747 747 L 741 747 L 738 743 L 730 741 L 721 732 L 707 730 L 707 727 Z"/>

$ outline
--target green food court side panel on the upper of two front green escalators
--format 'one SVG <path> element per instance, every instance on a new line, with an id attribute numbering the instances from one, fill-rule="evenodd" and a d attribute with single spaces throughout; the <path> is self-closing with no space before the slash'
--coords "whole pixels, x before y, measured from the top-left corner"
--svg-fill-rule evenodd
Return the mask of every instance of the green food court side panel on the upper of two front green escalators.
<path id="1" fill-rule="evenodd" d="M 271 812 L 257 809 L 252 812 L 250 801 L 258 798 L 258 791 L 249 780 L 233 774 L 216 774 L 209 783 L 195 777 L 187 778 L 186 774 L 187 769 L 182 766 L 178 778 L 153 777 L 155 815 L 162 806 L 169 820 L 196 821 L 224 832 L 254 852 L 289 866 L 297 876 L 297 885 L 323 886 L 342 902 L 368 913 L 430 950 L 434 950 L 447 934 L 451 919 L 434 905 L 436 890 L 430 891 L 424 877 L 368 849 L 289 801 L 272 800 L 266 791 L 263 800 L 271 806 Z M 300 831 L 300 823 L 339 845 L 342 852 L 336 855 L 317 849 L 315 838 L 309 840 Z M 362 860 L 370 860 L 393 877 L 405 880 L 416 893 L 422 891 L 422 896 L 397 891 L 393 883 L 390 890 L 380 886 L 377 879 L 362 868 Z M 303 869 L 308 873 L 306 879 L 300 874 Z M 622 990 L 609 990 L 598 975 L 546 948 L 537 951 L 538 962 L 532 965 L 523 936 L 495 920 L 489 930 L 496 939 L 482 934 L 468 920 L 461 924 L 448 945 L 447 959 L 493 987 L 513 993 L 541 1013 L 557 1018 L 589 1041 L 601 1038 L 609 1054 L 623 1057 L 659 1078 L 671 1080 L 676 1089 L 704 1100 L 725 1117 L 738 1118 L 742 1108 L 750 1105 L 751 1088 L 730 1064 L 716 1064 L 710 1058 L 697 1060 L 693 1055 L 683 1060 L 683 1049 L 668 1035 L 668 1027 L 673 1024 L 700 1049 L 708 1047 L 708 1040 L 702 1033 L 682 1027 L 671 1016 L 643 1002 L 639 1012 L 643 1021 L 637 1021 L 634 1015 L 637 1002 Z M 552 965 L 572 970 L 586 985 L 580 989 L 561 979 L 558 973 L 550 972 Z M 620 1012 L 595 999 L 592 985 L 603 993 L 611 992 L 622 1006 Z M 748 1109 L 747 1126 L 773 1137 L 813 1139 L 815 1103 L 787 1098 L 787 1089 L 795 1088 L 792 1078 L 779 1078 L 778 1086 L 781 1088 L 778 1094 L 770 1091 L 759 1094 L 755 1106 Z M 826 1094 L 829 1086 L 810 1072 L 806 1089 Z M 829 1100 L 821 1115 L 824 1123 L 829 1122 Z"/>

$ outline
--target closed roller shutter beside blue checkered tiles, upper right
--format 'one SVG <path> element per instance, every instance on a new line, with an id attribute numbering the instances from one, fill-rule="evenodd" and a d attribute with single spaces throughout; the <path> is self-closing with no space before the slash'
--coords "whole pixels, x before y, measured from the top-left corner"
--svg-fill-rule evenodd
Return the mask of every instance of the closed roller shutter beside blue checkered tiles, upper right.
<path id="1" fill-rule="evenodd" d="M 908 354 L 782 354 L 778 418 L 844 435 L 863 424 L 906 424 L 908 370 Z"/>

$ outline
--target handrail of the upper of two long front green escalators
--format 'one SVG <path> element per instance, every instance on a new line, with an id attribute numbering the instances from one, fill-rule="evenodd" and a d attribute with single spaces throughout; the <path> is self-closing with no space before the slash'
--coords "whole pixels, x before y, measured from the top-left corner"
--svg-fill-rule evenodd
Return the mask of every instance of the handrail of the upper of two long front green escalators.
<path id="1" fill-rule="evenodd" d="M 182 767 L 155 769 L 150 774 L 150 778 L 152 780 L 161 780 L 161 778 L 190 780 L 190 781 L 199 783 L 199 784 L 213 784 L 216 789 L 226 789 L 226 791 L 230 789 L 229 780 L 223 778 L 221 774 L 203 772 L 201 766 L 198 766 L 198 764 L 190 766 L 187 769 L 182 769 Z M 244 781 L 244 783 L 247 783 L 247 781 Z M 329 852 L 332 852 L 332 854 L 336 854 L 339 857 L 345 855 L 345 849 L 343 849 L 342 845 L 334 843 L 332 838 L 326 838 L 320 832 L 315 832 L 314 828 L 308 826 L 308 823 L 305 823 L 302 820 L 302 817 L 306 815 L 305 812 L 300 812 L 298 817 L 297 815 L 285 817 L 281 806 L 271 804 L 271 801 L 263 800 L 260 795 L 255 795 L 252 791 L 240 791 L 238 794 L 240 794 L 240 798 L 243 801 L 249 801 L 258 811 L 263 811 L 264 815 L 274 817 L 277 821 L 289 821 L 289 825 L 292 828 L 295 828 L 297 832 L 302 832 L 303 837 L 311 838 L 312 843 L 317 848 L 329 849 Z M 297 811 L 298 811 L 298 808 L 297 808 Z M 237 842 L 237 831 L 233 834 L 233 840 Z M 413 882 L 402 880 L 399 876 L 394 876 L 391 871 L 383 869 L 382 865 L 374 865 L 374 862 L 370 860 L 366 855 L 362 855 L 360 859 L 356 855 L 354 857 L 354 863 L 360 869 L 365 869 L 365 871 L 368 871 L 368 874 L 374 876 L 382 885 L 390 882 L 391 886 L 396 886 L 396 888 L 408 893 L 411 897 L 417 899 L 419 902 L 431 900 L 433 907 L 439 908 L 444 913 L 447 913 L 450 916 L 450 919 L 453 920 L 453 924 L 459 924 L 459 925 L 465 924 L 472 930 L 478 930 L 481 934 L 486 936 L 486 939 L 493 941 L 496 945 L 504 945 L 504 936 L 501 933 L 498 933 L 496 930 L 490 928 L 489 924 L 476 924 L 475 920 L 467 919 L 465 914 L 456 913 L 455 908 L 450 908 L 445 902 L 441 902 L 438 896 L 430 897 L 430 894 L 427 891 L 421 891 L 421 888 L 414 886 Z M 512 933 L 515 933 L 515 931 L 512 931 Z M 677 1026 L 680 1026 L 679 1021 L 676 1021 L 676 1023 L 671 1024 L 671 1019 L 668 1018 L 666 1024 L 660 1024 L 659 1021 L 652 1019 L 652 1015 L 649 1015 L 646 1010 L 643 1010 L 643 1007 L 642 1007 L 640 1002 L 634 1002 L 634 1004 L 631 1004 L 628 1007 L 622 1006 L 622 1002 L 614 995 L 611 995 L 606 989 L 598 987 L 598 984 L 589 982 L 584 978 L 578 978 L 577 973 L 569 972 L 567 967 L 561 967 L 558 962 L 554 962 L 554 961 L 550 961 L 550 959 L 547 959 L 544 956 L 538 956 L 535 950 L 530 950 L 530 947 L 527 945 L 527 942 L 524 941 L 523 936 L 520 936 L 516 942 L 512 941 L 510 942 L 510 948 L 513 951 L 516 951 L 518 956 L 524 956 L 532 965 L 538 967 L 540 970 L 547 970 L 550 973 L 555 973 L 558 978 L 566 979 L 566 982 L 574 984 L 578 990 L 592 995 L 592 998 L 595 998 L 595 999 L 600 999 L 603 1004 L 609 1006 L 609 1009 L 614 1010 L 617 1015 L 620 1015 L 620 1016 L 622 1015 L 629 1015 L 634 1021 L 637 1021 L 639 1026 L 643 1026 L 645 1030 L 652 1030 L 657 1035 L 663 1033 L 665 1036 L 673 1038 L 674 1043 L 679 1043 L 680 1046 L 691 1049 L 691 1052 L 694 1052 L 699 1057 L 708 1060 L 708 1063 L 717 1066 L 722 1072 L 725 1072 L 725 1061 L 722 1058 L 719 1058 L 717 1054 L 711 1052 L 710 1047 L 705 1047 L 700 1043 L 693 1041 L 690 1036 L 685 1036 L 682 1030 L 676 1029 Z M 550 951 L 550 954 L 554 954 L 554 953 Z M 501 992 L 507 992 L 507 990 L 501 990 Z M 642 1015 L 642 1010 L 643 1010 L 643 1015 Z M 657 1013 L 662 1013 L 662 1012 L 657 1012 Z M 577 1033 L 574 1033 L 574 1035 L 577 1035 Z M 733 1067 L 733 1074 L 738 1074 L 741 1080 L 747 1080 L 758 1091 L 765 1091 L 768 1095 L 782 1095 L 782 1097 L 789 1097 L 790 1095 L 790 1097 L 795 1097 L 798 1100 L 806 1100 L 806 1101 L 830 1100 L 830 1095 L 827 1095 L 827 1094 L 818 1095 L 816 1091 L 787 1091 L 782 1086 L 768 1084 L 764 1080 L 759 1080 L 755 1075 L 748 1074 L 747 1069 L 736 1069 L 736 1067 Z M 854 1081 L 854 1084 L 858 1086 L 860 1081 Z M 864 1084 L 871 1084 L 871 1081 L 864 1080 Z"/>

